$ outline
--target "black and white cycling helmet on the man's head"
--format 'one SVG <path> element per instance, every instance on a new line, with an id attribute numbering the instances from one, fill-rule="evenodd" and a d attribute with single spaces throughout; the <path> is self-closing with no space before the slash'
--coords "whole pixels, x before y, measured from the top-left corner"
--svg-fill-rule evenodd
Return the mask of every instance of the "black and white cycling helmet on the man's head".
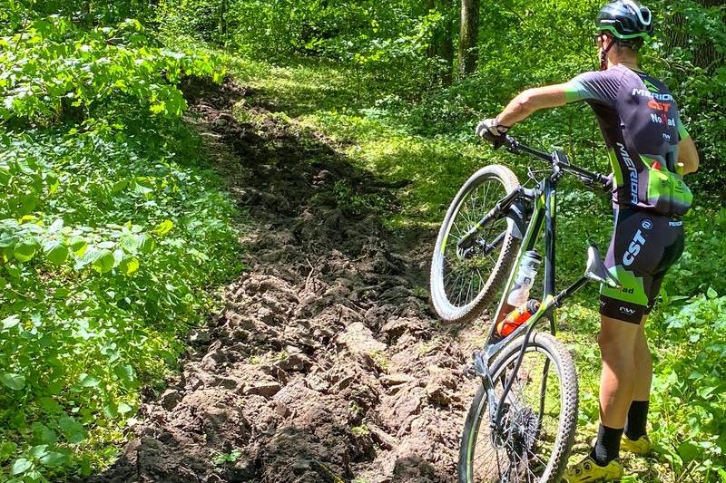
<path id="1" fill-rule="evenodd" d="M 634 0 L 614 0 L 597 15 L 598 32 L 609 32 L 617 39 L 647 39 L 652 35 L 652 14 Z"/>

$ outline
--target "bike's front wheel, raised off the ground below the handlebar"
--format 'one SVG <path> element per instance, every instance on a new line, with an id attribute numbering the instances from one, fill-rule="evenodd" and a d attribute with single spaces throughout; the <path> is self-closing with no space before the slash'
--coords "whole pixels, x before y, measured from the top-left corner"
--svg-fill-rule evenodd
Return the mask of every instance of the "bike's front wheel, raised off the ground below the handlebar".
<path id="1" fill-rule="evenodd" d="M 516 257 L 519 240 L 507 217 L 490 220 L 478 230 L 472 246 L 459 240 L 496 203 L 519 187 L 510 169 L 491 165 L 466 180 L 446 212 L 431 259 L 431 301 L 446 323 L 476 317 L 495 295 Z"/>

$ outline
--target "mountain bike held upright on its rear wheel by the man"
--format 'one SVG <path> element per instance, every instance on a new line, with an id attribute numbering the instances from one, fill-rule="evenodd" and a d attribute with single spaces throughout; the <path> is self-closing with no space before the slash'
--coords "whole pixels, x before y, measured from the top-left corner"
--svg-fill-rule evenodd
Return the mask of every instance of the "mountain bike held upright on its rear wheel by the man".
<path id="1" fill-rule="evenodd" d="M 572 356 L 554 338 L 554 308 L 588 280 L 619 285 L 590 244 L 584 275 L 555 291 L 557 184 L 568 173 L 603 189 L 608 179 L 574 166 L 560 150 L 535 150 L 509 136 L 503 146 L 544 160 L 548 167 L 541 178 L 529 169 L 532 188 L 521 186 L 502 165 L 476 171 L 446 212 L 431 263 L 432 303 L 444 322 L 474 319 L 503 288 L 487 342 L 465 369 L 480 385 L 461 438 L 459 481 L 559 482 L 574 440 L 578 388 Z M 541 305 L 502 339 L 495 321 L 504 315 L 520 259 L 535 248 L 543 229 Z M 546 332 L 536 331 L 544 321 L 549 322 Z"/>

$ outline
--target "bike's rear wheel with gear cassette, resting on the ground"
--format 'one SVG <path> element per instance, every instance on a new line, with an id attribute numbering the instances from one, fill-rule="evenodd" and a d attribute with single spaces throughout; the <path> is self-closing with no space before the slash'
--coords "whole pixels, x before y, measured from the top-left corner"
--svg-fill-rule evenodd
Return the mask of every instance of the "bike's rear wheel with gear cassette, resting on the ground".
<path id="1" fill-rule="evenodd" d="M 497 403 L 523 343 L 524 337 L 509 343 L 491 365 Z M 563 343 L 532 334 L 502 411 L 492 428 L 486 389 L 479 387 L 461 438 L 459 482 L 559 483 L 577 423 L 577 374 Z"/>

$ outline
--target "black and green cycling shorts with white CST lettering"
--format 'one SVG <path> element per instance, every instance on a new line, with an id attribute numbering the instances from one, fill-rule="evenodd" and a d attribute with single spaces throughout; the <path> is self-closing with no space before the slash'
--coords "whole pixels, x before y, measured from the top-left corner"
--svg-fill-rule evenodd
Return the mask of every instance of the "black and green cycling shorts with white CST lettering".
<path id="1" fill-rule="evenodd" d="M 683 253 L 680 219 L 638 209 L 615 209 L 605 266 L 622 285 L 600 288 L 600 314 L 640 324 L 650 314 L 663 276 Z"/>

